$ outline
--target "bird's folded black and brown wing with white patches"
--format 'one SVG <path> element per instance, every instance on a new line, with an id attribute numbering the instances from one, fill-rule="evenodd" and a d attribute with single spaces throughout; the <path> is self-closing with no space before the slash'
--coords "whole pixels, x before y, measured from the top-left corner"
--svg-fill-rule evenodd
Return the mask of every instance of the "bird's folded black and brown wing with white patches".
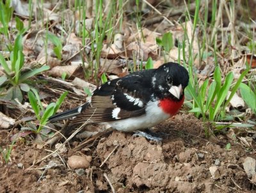
<path id="1" fill-rule="evenodd" d="M 81 109 L 71 122 L 110 122 L 143 115 L 153 93 L 153 71 L 138 71 L 104 83 L 93 92 L 90 105 Z"/>

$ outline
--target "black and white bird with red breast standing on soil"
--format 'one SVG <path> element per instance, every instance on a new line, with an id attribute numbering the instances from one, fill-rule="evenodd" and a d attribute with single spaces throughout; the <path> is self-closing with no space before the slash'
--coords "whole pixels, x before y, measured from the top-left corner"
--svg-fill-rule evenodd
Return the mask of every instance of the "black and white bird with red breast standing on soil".
<path id="1" fill-rule="evenodd" d="M 90 101 L 49 121 L 107 122 L 113 129 L 127 132 L 153 127 L 178 113 L 188 81 L 188 71 L 169 62 L 108 81 L 93 92 Z"/>

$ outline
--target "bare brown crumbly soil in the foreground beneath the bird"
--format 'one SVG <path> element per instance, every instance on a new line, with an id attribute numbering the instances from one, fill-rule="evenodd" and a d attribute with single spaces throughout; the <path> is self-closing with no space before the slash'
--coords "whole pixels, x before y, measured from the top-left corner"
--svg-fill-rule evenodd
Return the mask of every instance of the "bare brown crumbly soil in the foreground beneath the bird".
<path id="1" fill-rule="evenodd" d="M 161 144 L 114 131 L 95 147 L 77 152 L 93 158 L 90 168 L 80 175 L 65 167 L 59 156 L 35 164 L 50 154 L 38 143 L 16 144 L 12 163 L 6 165 L 1 160 L 0 192 L 112 192 L 110 184 L 115 192 L 256 191 L 242 165 L 245 157 L 255 159 L 256 155 L 241 143 L 221 134 L 205 138 L 202 122 L 192 115 L 177 115 L 158 125 L 156 131 L 164 138 Z M 6 132 L 0 133 L 3 141 Z M 227 143 L 231 150 L 225 150 Z M 67 162 L 67 152 L 60 156 Z M 56 166 L 45 170 L 49 162 Z M 23 168 L 18 168 L 20 163 Z M 215 164 L 218 170 L 213 178 L 209 168 Z"/>

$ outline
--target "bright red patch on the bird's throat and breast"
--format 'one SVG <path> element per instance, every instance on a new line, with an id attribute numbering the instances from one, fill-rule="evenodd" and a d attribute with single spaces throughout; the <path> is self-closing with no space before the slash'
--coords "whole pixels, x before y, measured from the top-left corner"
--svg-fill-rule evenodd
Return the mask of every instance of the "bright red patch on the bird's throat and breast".
<path id="1" fill-rule="evenodd" d="M 161 106 L 164 113 L 168 113 L 173 116 L 179 112 L 183 102 L 184 96 L 182 97 L 182 99 L 180 99 L 180 101 L 173 101 L 173 99 L 165 98 L 159 103 L 159 106 Z"/>

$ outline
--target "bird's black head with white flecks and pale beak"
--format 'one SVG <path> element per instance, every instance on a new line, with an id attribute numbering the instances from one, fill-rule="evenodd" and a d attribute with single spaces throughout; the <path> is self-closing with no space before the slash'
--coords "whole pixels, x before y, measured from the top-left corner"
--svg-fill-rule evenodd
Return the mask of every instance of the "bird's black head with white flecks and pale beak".
<path id="1" fill-rule="evenodd" d="M 172 97 L 179 100 L 188 86 L 189 75 L 186 68 L 174 62 L 168 62 L 156 69 L 152 85 L 157 97 Z"/>

